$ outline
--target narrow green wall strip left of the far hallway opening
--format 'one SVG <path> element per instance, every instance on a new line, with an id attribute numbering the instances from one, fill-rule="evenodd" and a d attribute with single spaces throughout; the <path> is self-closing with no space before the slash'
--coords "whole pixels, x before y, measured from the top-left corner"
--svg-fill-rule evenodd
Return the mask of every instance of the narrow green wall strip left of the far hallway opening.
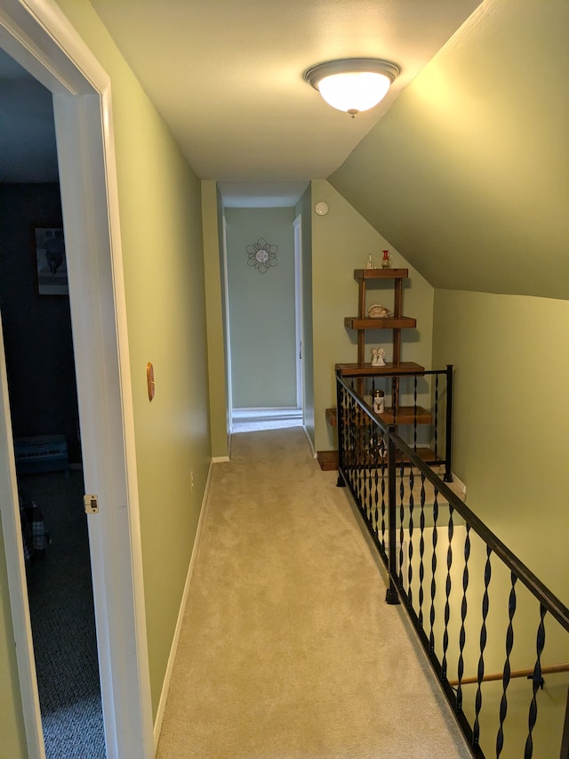
<path id="1" fill-rule="evenodd" d="M 207 366 L 210 395 L 212 456 L 228 456 L 228 351 L 223 303 L 223 204 L 217 183 L 202 182 L 205 301 L 207 306 Z"/>

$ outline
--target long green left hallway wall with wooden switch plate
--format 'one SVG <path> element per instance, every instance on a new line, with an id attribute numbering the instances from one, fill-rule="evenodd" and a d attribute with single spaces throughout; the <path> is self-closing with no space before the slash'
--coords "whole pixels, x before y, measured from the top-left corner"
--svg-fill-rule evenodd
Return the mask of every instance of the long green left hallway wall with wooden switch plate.
<path id="1" fill-rule="evenodd" d="M 92 6 L 59 4 L 111 78 L 156 715 L 211 456 L 201 186 Z"/>

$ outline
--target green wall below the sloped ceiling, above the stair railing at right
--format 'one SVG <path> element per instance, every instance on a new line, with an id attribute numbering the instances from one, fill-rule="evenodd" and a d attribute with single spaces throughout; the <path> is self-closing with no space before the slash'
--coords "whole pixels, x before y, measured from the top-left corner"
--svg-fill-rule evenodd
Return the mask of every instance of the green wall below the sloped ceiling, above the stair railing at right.
<path id="1" fill-rule="evenodd" d="M 565 301 L 435 293 L 433 360 L 456 367 L 453 470 L 469 507 L 565 604 L 568 324 Z"/>

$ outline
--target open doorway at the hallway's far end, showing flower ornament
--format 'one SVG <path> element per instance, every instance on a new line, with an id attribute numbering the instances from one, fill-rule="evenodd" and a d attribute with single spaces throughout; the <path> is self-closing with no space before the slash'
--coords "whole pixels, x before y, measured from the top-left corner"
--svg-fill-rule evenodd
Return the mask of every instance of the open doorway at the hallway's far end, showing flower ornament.
<path id="1" fill-rule="evenodd" d="M 302 424 L 301 267 L 293 207 L 226 207 L 234 432 Z"/>

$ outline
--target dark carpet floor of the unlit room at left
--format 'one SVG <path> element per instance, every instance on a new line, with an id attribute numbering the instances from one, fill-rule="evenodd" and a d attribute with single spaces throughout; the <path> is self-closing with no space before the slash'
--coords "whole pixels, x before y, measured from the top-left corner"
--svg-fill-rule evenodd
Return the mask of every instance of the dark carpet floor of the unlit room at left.
<path id="1" fill-rule="evenodd" d="M 104 759 L 83 473 L 20 477 L 51 543 L 28 561 L 28 596 L 47 759 Z"/>

